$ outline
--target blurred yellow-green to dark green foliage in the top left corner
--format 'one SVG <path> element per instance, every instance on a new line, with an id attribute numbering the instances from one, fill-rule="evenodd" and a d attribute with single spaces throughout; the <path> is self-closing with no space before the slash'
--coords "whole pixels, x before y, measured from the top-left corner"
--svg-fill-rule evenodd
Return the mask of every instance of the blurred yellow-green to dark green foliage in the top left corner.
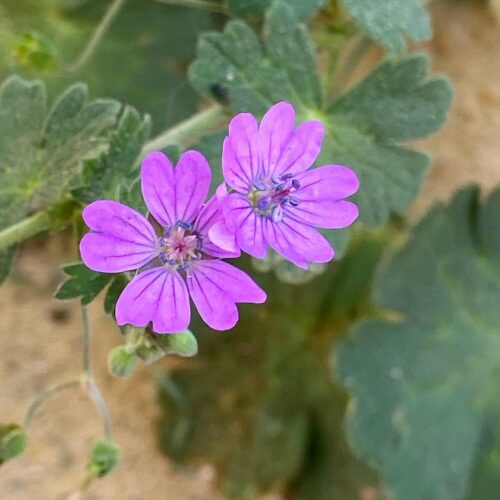
<path id="1" fill-rule="evenodd" d="M 0 75 L 41 76 L 49 95 L 83 81 L 152 117 L 153 132 L 191 116 L 198 98 L 186 79 L 197 38 L 222 16 L 155 0 L 125 2 L 94 56 L 73 68 L 103 17 L 101 0 L 2 0 Z"/>

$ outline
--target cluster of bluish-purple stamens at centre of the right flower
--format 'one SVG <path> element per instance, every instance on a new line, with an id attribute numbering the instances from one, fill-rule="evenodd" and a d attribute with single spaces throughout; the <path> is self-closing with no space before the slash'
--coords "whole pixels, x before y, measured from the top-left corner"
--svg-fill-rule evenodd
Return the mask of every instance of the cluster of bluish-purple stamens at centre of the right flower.
<path id="1" fill-rule="evenodd" d="M 248 194 L 250 203 L 262 216 L 280 222 L 283 218 L 283 207 L 296 207 L 300 200 L 293 193 L 300 188 L 300 182 L 292 174 L 272 176 L 270 179 L 259 177 L 253 183 Z"/>

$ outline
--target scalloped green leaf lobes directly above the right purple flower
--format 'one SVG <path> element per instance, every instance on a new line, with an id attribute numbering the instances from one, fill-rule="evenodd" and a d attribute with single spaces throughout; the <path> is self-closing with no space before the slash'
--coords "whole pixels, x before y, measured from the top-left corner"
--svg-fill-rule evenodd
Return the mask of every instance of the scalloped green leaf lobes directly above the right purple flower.
<path id="1" fill-rule="evenodd" d="M 218 85 L 227 90 L 233 109 L 257 114 L 280 100 L 292 100 L 303 113 L 318 106 L 320 83 L 306 27 L 297 24 L 290 8 L 276 3 L 266 16 L 264 37 L 265 50 L 242 21 L 202 36 L 189 70 L 191 83 L 212 98 Z"/>

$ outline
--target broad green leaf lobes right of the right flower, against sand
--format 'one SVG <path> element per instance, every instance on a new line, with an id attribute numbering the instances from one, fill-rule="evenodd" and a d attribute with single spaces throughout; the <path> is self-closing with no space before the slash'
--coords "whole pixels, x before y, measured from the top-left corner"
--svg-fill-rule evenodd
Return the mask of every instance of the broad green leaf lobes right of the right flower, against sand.
<path id="1" fill-rule="evenodd" d="M 386 61 L 329 110 L 320 161 L 333 157 L 356 171 L 354 199 L 366 224 L 403 212 L 420 190 L 429 158 L 398 143 L 438 130 L 452 98 L 446 79 L 427 78 L 427 65 L 422 55 Z"/>

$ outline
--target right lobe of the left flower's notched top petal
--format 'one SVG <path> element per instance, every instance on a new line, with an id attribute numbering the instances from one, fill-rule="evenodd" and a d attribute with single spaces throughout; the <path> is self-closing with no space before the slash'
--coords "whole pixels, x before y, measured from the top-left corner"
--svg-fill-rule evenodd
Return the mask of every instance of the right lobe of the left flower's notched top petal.
<path id="1" fill-rule="evenodd" d="M 191 223 L 210 189 L 210 165 L 198 151 L 186 151 L 179 158 L 174 174 L 176 220 Z"/>

